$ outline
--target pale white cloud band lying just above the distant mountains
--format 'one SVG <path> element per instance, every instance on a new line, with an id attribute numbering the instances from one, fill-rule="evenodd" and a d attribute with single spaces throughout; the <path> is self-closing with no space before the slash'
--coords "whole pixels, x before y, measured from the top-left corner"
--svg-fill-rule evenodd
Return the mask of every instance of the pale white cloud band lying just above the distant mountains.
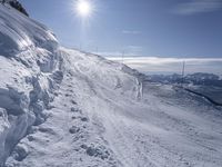
<path id="1" fill-rule="evenodd" d="M 122 61 L 121 57 L 108 57 L 113 61 Z M 125 65 L 144 73 L 181 73 L 185 61 L 186 72 L 211 72 L 222 75 L 222 58 L 158 58 L 158 57 L 125 57 Z"/>

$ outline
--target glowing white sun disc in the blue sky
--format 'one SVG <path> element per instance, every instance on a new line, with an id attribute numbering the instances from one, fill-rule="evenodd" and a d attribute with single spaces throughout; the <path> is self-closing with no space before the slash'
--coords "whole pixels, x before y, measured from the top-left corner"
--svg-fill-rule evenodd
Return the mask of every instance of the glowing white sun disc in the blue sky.
<path id="1" fill-rule="evenodd" d="M 92 12 L 92 4 L 89 0 L 78 0 L 77 1 L 77 13 L 83 18 L 89 17 Z"/>

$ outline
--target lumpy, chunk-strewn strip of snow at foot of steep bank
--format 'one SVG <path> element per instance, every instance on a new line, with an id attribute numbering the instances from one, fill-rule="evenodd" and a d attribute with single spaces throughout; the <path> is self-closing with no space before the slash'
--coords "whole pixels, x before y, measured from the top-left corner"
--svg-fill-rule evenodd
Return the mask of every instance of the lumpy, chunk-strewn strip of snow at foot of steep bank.
<path id="1" fill-rule="evenodd" d="M 7 166 L 120 166 L 85 111 L 75 102 L 73 87 L 70 73 L 65 73 L 60 90 L 54 92 L 52 109 L 46 112 L 47 121 L 33 127 L 20 141 L 30 154 L 22 161 L 10 157 Z"/>

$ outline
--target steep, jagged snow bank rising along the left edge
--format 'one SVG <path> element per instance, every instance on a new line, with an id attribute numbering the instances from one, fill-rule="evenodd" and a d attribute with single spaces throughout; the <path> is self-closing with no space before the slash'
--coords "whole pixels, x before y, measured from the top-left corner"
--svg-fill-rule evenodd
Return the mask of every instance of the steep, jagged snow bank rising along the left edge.
<path id="1" fill-rule="evenodd" d="M 47 117 L 43 110 L 57 87 L 53 73 L 61 70 L 57 46 L 47 28 L 0 6 L 0 166 L 29 128 Z"/>

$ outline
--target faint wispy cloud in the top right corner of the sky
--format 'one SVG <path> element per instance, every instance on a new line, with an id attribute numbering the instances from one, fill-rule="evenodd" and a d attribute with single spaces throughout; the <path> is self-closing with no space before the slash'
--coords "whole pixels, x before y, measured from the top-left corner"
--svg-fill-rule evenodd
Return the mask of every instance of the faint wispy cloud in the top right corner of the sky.
<path id="1" fill-rule="evenodd" d="M 212 12 L 222 8 L 222 0 L 191 0 L 183 2 L 174 10 L 178 14 L 195 14 L 201 12 Z"/>

